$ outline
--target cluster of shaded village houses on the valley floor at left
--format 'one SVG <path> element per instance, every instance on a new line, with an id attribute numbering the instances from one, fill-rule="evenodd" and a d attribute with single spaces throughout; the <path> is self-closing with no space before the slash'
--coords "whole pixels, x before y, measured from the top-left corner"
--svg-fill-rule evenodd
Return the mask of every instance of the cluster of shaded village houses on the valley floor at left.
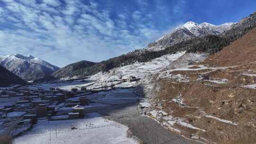
<path id="1" fill-rule="evenodd" d="M 56 106 L 64 103 L 63 107 L 70 107 L 72 110 L 67 113 L 68 119 L 83 118 L 84 106 L 89 105 L 89 99 L 86 94 L 91 92 L 82 87 L 81 90 L 72 88 L 71 91 L 61 90 L 59 88 L 31 89 L 30 87 L 19 87 L 10 90 L 1 90 L 0 97 L 3 98 L 18 98 L 11 105 L 0 108 L 0 112 L 9 113 L 15 111 L 24 111 L 27 114 L 23 115 L 21 123 L 28 123 L 31 120 L 48 117 L 57 114 Z M 76 99 L 73 99 L 76 98 Z"/>

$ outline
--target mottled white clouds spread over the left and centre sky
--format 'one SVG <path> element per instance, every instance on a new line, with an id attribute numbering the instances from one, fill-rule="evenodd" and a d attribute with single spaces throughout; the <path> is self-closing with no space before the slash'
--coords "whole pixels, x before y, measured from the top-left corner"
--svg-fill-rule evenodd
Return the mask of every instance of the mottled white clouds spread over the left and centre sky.
<path id="1" fill-rule="evenodd" d="M 2 1 L 6 6 L 0 8 L 0 24 L 10 20 L 16 29 L 0 29 L 0 55 L 30 54 L 62 67 L 143 48 L 162 34 L 154 24 L 141 22 L 152 14 L 121 12 L 114 19 L 109 8 L 92 0 L 88 5 L 80 0 Z"/>

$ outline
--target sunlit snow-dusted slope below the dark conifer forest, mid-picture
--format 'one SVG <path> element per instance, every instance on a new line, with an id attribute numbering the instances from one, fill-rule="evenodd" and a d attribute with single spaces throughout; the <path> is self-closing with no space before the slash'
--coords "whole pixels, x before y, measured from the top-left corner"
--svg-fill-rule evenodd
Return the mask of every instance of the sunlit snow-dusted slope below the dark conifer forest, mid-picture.
<path id="1" fill-rule="evenodd" d="M 90 86 L 84 86 L 86 86 L 88 90 L 110 90 L 112 88 L 136 87 L 141 84 L 150 85 L 155 79 L 166 77 L 163 73 L 165 73 L 167 69 L 186 67 L 190 64 L 203 61 L 207 56 L 208 54 L 186 54 L 184 51 L 176 54 L 166 54 L 149 62 L 136 62 L 114 68 L 109 72 L 99 72 L 87 79 L 94 81 Z M 129 79 L 130 76 L 139 78 L 140 81 L 124 81 Z M 76 86 L 79 87 L 79 85 Z"/>

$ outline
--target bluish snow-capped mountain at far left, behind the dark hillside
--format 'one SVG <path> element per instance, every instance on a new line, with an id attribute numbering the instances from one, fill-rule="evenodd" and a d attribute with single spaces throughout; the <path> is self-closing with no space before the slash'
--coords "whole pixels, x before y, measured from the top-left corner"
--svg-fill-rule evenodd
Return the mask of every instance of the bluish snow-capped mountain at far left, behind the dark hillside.
<path id="1" fill-rule="evenodd" d="M 5 55 L 0 57 L 0 65 L 15 73 L 26 81 L 33 81 L 43 78 L 46 75 L 60 69 L 59 67 L 47 63 L 31 55 L 24 56 L 21 54 Z"/>

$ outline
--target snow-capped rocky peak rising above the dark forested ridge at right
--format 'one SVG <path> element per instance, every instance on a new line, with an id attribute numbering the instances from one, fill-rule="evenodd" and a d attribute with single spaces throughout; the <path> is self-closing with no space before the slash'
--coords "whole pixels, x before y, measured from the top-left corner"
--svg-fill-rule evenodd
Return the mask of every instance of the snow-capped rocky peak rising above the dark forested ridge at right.
<path id="1" fill-rule="evenodd" d="M 208 35 L 219 35 L 226 30 L 229 30 L 235 23 L 225 23 L 219 26 L 215 26 L 209 23 L 197 24 L 195 22 L 189 21 L 178 27 L 173 32 L 166 34 L 165 36 L 159 38 L 153 43 L 146 46 L 146 50 L 149 51 L 160 51 L 168 46 L 174 45 L 176 43 Z"/>

